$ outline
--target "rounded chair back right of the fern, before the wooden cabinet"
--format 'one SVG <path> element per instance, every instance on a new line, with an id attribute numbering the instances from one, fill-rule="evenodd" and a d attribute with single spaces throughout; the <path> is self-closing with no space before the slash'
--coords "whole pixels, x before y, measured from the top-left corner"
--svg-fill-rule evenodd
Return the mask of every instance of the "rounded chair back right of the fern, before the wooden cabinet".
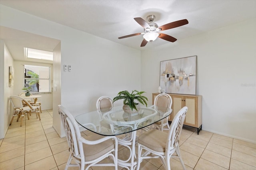
<path id="1" fill-rule="evenodd" d="M 154 99 L 154 105 L 162 112 L 166 112 L 168 108 L 172 107 L 172 98 L 169 94 L 160 93 Z"/>

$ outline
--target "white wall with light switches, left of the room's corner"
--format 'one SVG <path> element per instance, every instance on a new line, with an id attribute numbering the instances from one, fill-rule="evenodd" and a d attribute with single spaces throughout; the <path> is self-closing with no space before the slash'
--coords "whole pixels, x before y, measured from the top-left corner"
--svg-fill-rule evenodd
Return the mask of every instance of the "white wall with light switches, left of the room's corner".
<path id="1" fill-rule="evenodd" d="M 0 21 L 5 27 L 61 41 L 60 68 L 72 66 L 71 72 L 61 69 L 61 104 L 74 115 L 96 109 L 100 96 L 113 98 L 120 90 L 140 90 L 138 50 L 2 5 Z"/>

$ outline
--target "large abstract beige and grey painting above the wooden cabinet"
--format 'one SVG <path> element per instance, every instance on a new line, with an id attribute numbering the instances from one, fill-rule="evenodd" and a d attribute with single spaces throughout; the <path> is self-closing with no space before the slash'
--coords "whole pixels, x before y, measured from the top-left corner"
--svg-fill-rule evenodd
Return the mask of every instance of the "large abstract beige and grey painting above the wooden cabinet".
<path id="1" fill-rule="evenodd" d="M 166 93 L 196 95 L 196 56 L 161 61 L 160 87 Z"/>

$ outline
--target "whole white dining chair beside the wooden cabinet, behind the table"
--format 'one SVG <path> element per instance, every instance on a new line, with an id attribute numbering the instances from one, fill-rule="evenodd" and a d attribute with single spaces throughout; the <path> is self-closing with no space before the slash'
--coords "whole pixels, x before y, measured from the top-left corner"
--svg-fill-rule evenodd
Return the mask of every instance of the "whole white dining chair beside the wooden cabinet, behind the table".
<path id="1" fill-rule="evenodd" d="M 172 107 L 172 97 L 166 93 L 158 94 L 154 99 L 154 105 L 151 108 L 156 109 L 160 113 L 166 113 Z M 153 124 L 154 127 L 159 128 L 161 131 L 169 130 L 170 125 L 168 122 L 169 116 Z M 167 128 L 164 128 L 164 127 Z"/>

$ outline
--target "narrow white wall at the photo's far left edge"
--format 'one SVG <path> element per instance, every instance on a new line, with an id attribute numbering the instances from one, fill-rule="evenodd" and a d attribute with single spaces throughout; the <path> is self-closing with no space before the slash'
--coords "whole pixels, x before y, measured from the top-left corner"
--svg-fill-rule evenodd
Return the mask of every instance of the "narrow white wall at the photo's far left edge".
<path id="1" fill-rule="evenodd" d="M 13 59 L 2 39 L 0 40 L 0 49 L 0 139 L 2 139 L 12 118 L 13 112 L 9 107 L 9 96 L 12 95 L 14 87 L 9 87 L 9 66 L 13 66 Z"/>

